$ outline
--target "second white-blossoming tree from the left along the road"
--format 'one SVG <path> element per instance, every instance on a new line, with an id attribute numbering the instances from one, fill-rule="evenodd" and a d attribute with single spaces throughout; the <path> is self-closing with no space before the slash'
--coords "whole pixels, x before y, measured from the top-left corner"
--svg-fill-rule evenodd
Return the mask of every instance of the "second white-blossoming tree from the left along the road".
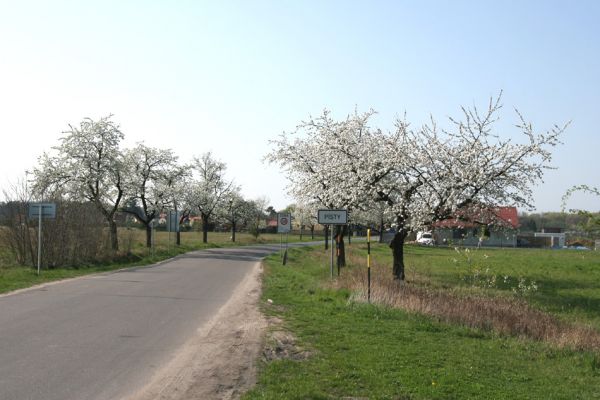
<path id="1" fill-rule="evenodd" d="M 152 224 L 161 212 L 176 202 L 175 184 L 183 177 L 177 156 L 170 149 L 138 143 L 125 155 L 127 204 L 123 211 L 133 214 L 146 228 L 146 246 L 152 246 Z"/>

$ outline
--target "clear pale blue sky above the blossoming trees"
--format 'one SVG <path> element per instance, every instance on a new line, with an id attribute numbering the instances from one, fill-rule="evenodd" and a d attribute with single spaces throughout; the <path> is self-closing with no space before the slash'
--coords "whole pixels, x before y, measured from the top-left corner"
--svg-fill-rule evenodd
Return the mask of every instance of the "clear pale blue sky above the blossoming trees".
<path id="1" fill-rule="evenodd" d="M 504 91 L 539 131 L 572 120 L 535 188 L 560 209 L 600 186 L 599 1 L 0 0 L 0 185 L 24 177 L 67 124 L 113 113 L 126 135 L 225 161 L 276 208 L 286 181 L 268 140 L 329 108 L 392 127 L 444 121 Z M 600 198 L 569 207 L 600 210 Z"/>

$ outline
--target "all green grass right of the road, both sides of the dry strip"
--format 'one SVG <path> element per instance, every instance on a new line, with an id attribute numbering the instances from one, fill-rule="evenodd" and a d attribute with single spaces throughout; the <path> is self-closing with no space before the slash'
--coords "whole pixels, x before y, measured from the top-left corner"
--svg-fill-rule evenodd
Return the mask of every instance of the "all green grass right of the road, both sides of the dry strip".
<path id="1" fill-rule="evenodd" d="M 406 252 L 407 286 L 528 303 L 600 329 L 597 253 L 485 249 L 465 256 L 413 246 Z M 364 255 L 364 245 L 353 244 L 354 265 L 335 282 L 321 249 L 294 249 L 286 267 L 277 257 L 268 259 L 264 310 L 283 322 L 271 328 L 267 343 L 271 353 L 287 348 L 281 352 L 288 356 L 263 361 L 259 383 L 244 399 L 600 398 L 600 349 L 576 350 L 368 304 L 356 288 L 345 287 L 354 282 L 347 277 L 366 274 Z M 389 249 L 375 246 L 373 258 L 374 281 L 391 276 Z M 472 279 L 478 269 L 502 279 L 484 287 Z M 518 279 L 534 280 L 538 289 L 513 290 Z M 296 339 L 274 341 L 281 331 Z"/>

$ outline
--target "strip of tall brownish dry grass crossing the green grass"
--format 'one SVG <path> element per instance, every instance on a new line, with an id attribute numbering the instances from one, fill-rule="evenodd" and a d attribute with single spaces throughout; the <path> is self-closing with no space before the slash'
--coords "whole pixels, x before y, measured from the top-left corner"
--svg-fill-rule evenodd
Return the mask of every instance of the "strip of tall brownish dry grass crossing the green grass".
<path id="1" fill-rule="evenodd" d="M 350 265 L 364 265 L 353 254 Z M 491 330 L 503 335 L 544 341 L 561 348 L 600 350 L 600 332 L 571 324 L 530 307 L 523 299 L 469 293 L 458 289 L 431 288 L 427 278 L 409 271 L 407 281 L 392 279 L 389 268 L 372 264 L 371 302 L 425 314 L 440 321 Z M 352 300 L 367 301 L 365 268 L 348 268 L 336 285 L 353 291 Z"/>

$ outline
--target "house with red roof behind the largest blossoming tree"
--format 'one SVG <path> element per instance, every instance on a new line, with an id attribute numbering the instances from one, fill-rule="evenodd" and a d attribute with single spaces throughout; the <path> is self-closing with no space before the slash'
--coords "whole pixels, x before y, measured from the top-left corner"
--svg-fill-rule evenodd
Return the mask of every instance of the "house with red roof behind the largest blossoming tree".
<path id="1" fill-rule="evenodd" d="M 433 225 L 437 244 L 516 247 L 519 216 L 516 207 L 480 208 L 457 212 Z"/>

